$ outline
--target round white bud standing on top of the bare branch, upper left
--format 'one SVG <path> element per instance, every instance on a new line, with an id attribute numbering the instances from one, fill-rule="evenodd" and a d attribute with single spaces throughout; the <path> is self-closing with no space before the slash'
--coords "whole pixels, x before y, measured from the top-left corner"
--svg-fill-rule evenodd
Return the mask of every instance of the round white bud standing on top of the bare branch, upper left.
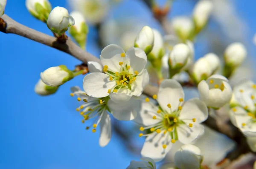
<path id="1" fill-rule="evenodd" d="M 47 20 L 48 28 L 56 34 L 63 34 L 74 24 L 75 20 L 69 15 L 67 9 L 59 6 L 52 9 Z"/>

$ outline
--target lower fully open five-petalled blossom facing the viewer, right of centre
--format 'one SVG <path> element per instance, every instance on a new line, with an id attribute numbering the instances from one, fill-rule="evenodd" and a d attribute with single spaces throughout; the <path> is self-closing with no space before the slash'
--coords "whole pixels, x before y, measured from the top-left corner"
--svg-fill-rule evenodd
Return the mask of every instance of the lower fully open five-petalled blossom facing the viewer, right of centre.
<path id="1" fill-rule="evenodd" d="M 200 123 L 207 119 L 207 106 L 198 98 L 184 102 L 184 92 L 180 83 L 173 79 L 163 80 L 159 92 L 154 95 L 159 106 L 148 102 L 142 103 L 142 110 L 134 119 L 143 124 L 140 130 L 150 129 L 146 134 L 141 154 L 155 161 L 162 160 L 172 148 L 172 144 L 179 140 L 188 144 L 204 133 L 204 126 Z M 143 133 L 140 133 L 140 137 Z"/>

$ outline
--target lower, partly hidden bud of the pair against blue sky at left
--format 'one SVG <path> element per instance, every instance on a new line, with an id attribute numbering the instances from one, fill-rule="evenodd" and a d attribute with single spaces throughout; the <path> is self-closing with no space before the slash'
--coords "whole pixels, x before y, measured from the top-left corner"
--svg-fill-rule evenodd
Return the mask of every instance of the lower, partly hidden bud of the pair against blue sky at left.
<path id="1" fill-rule="evenodd" d="M 52 95 L 58 90 L 58 86 L 47 86 L 41 79 L 35 85 L 35 92 L 41 96 Z"/>

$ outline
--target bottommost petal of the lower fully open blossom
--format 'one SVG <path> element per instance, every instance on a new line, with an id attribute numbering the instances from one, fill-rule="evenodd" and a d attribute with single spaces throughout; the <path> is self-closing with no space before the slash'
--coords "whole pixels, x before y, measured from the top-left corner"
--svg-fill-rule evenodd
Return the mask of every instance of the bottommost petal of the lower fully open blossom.
<path id="1" fill-rule="evenodd" d="M 169 144 L 166 143 L 166 140 Z M 141 155 L 143 157 L 152 158 L 154 161 L 163 160 L 166 156 L 166 153 L 172 148 L 171 136 L 169 134 L 160 133 L 152 133 L 148 135 L 141 150 Z M 163 149 L 163 144 L 166 144 L 166 149 Z"/>

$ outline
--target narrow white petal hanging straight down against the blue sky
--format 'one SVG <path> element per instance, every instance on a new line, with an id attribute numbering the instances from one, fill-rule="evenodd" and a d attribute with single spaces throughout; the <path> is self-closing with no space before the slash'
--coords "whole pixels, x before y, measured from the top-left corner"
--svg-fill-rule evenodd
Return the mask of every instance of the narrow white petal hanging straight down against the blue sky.
<path id="1" fill-rule="evenodd" d="M 111 121 L 110 121 L 110 116 L 108 115 L 107 112 L 103 112 L 99 125 L 100 125 L 99 146 L 104 147 L 111 140 Z"/>

